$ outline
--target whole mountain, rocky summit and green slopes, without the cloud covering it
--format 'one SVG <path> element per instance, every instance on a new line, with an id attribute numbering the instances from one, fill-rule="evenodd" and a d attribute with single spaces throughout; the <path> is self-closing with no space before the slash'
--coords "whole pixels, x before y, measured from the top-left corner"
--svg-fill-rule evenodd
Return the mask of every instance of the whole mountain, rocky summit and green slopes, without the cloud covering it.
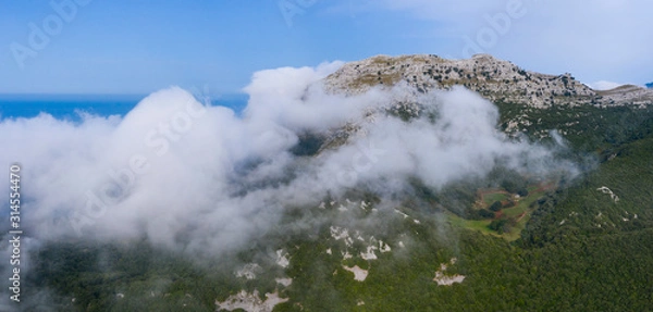
<path id="1" fill-rule="evenodd" d="M 51 242 L 30 254 L 29 285 L 51 290 L 50 304 L 60 311 L 650 309 L 653 105 L 637 103 L 648 101 L 641 88 L 595 91 L 570 75 L 526 72 L 489 55 L 375 57 L 345 64 L 322 83 L 347 95 L 406 84 L 414 97 L 401 99 L 398 111 L 303 134 L 288 151 L 298 163 L 347 148 L 374 116 L 396 117 L 404 132 L 423 125 L 438 112 L 420 110 L 419 96 L 461 84 L 495 101 L 496 127 L 516 137 L 506 140 L 565 138 L 560 160 L 574 160 L 581 172 L 572 180 L 541 182 L 496 169 L 486 179 L 440 189 L 411 176 L 410 187 L 391 198 L 358 185 L 342 197 L 326 192 L 315 205 L 289 205 L 260 234 L 266 239 L 204 261 L 147 237 Z M 492 199 L 484 202 L 481 190 Z M 493 202 L 496 214 L 478 215 Z M 27 289 L 28 298 L 39 295 Z"/>

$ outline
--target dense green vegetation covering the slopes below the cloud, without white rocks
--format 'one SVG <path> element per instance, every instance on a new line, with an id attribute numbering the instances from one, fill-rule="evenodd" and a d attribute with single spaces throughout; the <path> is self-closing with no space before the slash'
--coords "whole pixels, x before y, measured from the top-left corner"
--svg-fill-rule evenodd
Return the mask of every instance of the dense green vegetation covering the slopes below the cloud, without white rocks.
<path id="1" fill-rule="evenodd" d="M 502 118 L 525 113 L 522 107 L 500 108 Z M 331 207 L 292 210 L 284 223 L 324 216 L 334 221 L 291 232 L 281 230 L 281 224 L 268 235 L 276 241 L 273 247 L 255 244 L 200 263 L 146 239 L 50 244 L 33 254 L 29 283 L 51 290 L 59 311 L 214 311 L 215 300 L 241 289 L 257 289 L 261 296 L 279 290 L 289 301 L 275 311 L 650 311 L 653 109 L 552 108 L 528 109 L 527 114 L 531 139 L 552 128 L 566 133 L 572 148 L 567 155 L 580 154 L 577 160 L 587 169 L 580 177 L 544 190 L 497 170 L 488 180 L 451 185 L 440 192 L 416 180 L 398 207 L 409 217 L 381 209 L 372 195 L 354 192 L 350 199 L 378 204 L 379 215 L 359 211 L 356 223 L 335 217 Z M 569 124 L 574 121 L 580 123 Z M 315 150 L 309 146 L 303 152 Z M 489 194 L 482 204 L 502 216 L 471 220 L 470 212 L 481 211 L 475 208 L 477 190 L 488 187 L 502 191 Z M 520 199 L 513 207 L 491 209 L 510 198 L 504 190 Z M 332 239 L 331 225 L 358 226 L 365 241 L 374 236 L 392 251 L 377 252 L 377 260 L 343 260 L 341 252 L 357 255 L 368 245 L 346 247 Z M 288 252 L 285 270 L 272 255 L 261 257 L 278 248 Z M 466 278 L 439 286 L 435 272 L 452 258 L 457 262 L 446 274 Z M 249 262 L 261 265 L 258 277 L 236 277 L 233 272 Z M 365 282 L 354 280 L 343 265 L 358 265 L 369 275 Z M 274 278 L 282 276 L 292 277 L 293 284 L 278 285 Z"/>

